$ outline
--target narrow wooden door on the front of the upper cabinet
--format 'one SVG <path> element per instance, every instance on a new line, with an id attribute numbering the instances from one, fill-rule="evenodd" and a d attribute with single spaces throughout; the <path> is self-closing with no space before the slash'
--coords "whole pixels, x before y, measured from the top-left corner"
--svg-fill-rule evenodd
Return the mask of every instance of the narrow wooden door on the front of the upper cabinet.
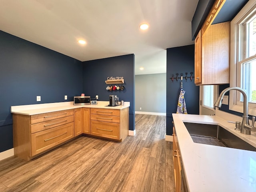
<path id="1" fill-rule="evenodd" d="M 202 82 L 202 36 L 201 30 L 195 39 L 195 84 Z"/>

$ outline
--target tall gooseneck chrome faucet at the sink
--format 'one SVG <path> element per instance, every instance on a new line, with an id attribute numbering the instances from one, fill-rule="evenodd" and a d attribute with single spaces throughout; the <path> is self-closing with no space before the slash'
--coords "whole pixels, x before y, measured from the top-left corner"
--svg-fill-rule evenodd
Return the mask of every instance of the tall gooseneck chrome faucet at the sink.
<path id="1" fill-rule="evenodd" d="M 244 97 L 244 115 L 243 115 L 240 132 L 242 134 L 250 135 L 251 131 L 256 131 L 256 127 L 254 127 L 255 117 L 252 117 L 252 125 L 250 126 L 249 116 L 248 116 L 248 101 L 247 101 L 248 96 L 247 96 L 247 93 L 243 89 L 241 89 L 240 87 L 228 87 L 228 88 L 224 89 L 220 93 L 218 100 L 214 104 L 214 108 L 221 107 L 221 102 L 222 102 L 224 94 L 230 90 L 237 90 L 237 91 L 241 92 Z"/>

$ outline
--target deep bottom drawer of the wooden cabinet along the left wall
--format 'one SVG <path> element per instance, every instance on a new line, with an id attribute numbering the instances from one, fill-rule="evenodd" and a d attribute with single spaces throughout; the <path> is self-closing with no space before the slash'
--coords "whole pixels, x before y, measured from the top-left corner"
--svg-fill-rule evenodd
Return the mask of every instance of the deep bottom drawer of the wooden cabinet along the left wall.
<path id="1" fill-rule="evenodd" d="M 31 156 L 74 137 L 74 122 L 31 134 Z"/>

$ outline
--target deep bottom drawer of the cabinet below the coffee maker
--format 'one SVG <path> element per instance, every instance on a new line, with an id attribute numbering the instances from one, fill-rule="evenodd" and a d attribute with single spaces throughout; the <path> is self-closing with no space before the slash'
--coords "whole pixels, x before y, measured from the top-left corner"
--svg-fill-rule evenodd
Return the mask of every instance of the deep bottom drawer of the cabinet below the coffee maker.
<path id="1" fill-rule="evenodd" d="M 91 134 L 120 140 L 120 124 L 91 120 Z"/>

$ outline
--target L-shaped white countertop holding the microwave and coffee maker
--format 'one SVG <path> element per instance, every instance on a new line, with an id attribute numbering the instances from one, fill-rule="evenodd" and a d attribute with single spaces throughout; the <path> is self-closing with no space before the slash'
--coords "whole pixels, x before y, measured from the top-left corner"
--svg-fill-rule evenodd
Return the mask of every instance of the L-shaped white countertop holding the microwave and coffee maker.
<path id="1" fill-rule="evenodd" d="M 22 114 L 22 115 L 36 115 L 36 114 L 75 109 L 75 108 L 81 108 L 81 107 L 104 108 L 104 109 L 115 109 L 115 110 L 121 110 L 121 109 L 130 107 L 130 102 L 124 102 L 124 105 L 119 105 L 115 107 L 109 107 L 107 106 L 108 104 L 109 104 L 108 101 L 98 101 L 97 104 L 90 104 L 90 105 L 74 105 L 74 102 L 20 105 L 20 106 L 11 106 L 11 113 Z"/>

